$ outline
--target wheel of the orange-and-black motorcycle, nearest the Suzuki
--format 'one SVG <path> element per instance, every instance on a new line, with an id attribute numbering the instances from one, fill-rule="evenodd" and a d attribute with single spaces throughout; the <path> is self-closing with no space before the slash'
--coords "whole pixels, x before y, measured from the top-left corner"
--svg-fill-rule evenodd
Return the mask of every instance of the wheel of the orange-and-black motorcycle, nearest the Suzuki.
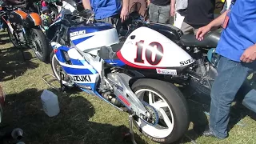
<path id="1" fill-rule="evenodd" d="M 38 29 L 31 29 L 30 34 L 30 47 L 34 50 L 34 54 L 40 61 L 46 62 L 47 58 L 49 58 L 49 45 L 45 34 L 43 34 L 42 30 Z"/>

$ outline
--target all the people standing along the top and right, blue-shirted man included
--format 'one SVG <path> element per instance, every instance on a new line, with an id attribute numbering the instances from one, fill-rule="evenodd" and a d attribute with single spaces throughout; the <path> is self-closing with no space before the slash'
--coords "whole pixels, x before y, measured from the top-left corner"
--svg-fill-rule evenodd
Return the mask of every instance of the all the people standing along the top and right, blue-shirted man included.
<path id="1" fill-rule="evenodd" d="M 143 17 L 148 13 L 150 22 L 173 24 L 174 17 L 183 17 L 181 30 L 195 34 L 198 41 L 214 28 L 223 29 L 216 48 L 221 58 L 210 94 L 210 126 L 203 135 L 226 138 L 231 102 L 256 67 L 256 0 L 226 0 L 222 14 L 215 19 L 215 0 L 82 0 L 85 9 L 94 11 L 96 20 L 111 24 L 126 21 L 136 3 L 140 3 L 138 11 Z M 256 104 L 254 95 L 256 91 L 251 90 L 244 101 Z M 249 107 L 256 112 L 256 106 Z"/>

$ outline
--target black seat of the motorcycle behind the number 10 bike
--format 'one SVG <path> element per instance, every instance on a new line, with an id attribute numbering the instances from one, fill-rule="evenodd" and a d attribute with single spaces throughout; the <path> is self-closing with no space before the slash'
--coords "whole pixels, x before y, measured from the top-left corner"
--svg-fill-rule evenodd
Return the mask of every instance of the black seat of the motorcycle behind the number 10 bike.
<path id="1" fill-rule="evenodd" d="M 194 34 L 182 35 L 181 43 L 182 46 L 193 46 L 193 47 L 206 47 L 215 48 L 217 47 L 218 40 L 220 38 L 220 32 L 218 30 L 211 31 L 206 34 L 202 41 L 198 41 Z"/>

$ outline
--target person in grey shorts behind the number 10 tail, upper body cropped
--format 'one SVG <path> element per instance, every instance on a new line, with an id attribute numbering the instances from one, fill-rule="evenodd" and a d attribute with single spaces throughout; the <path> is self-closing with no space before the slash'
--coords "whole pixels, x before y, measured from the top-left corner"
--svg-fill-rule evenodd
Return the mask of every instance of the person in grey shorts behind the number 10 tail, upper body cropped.
<path id="1" fill-rule="evenodd" d="M 150 22 L 170 24 L 170 0 L 149 0 L 148 3 Z"/>

